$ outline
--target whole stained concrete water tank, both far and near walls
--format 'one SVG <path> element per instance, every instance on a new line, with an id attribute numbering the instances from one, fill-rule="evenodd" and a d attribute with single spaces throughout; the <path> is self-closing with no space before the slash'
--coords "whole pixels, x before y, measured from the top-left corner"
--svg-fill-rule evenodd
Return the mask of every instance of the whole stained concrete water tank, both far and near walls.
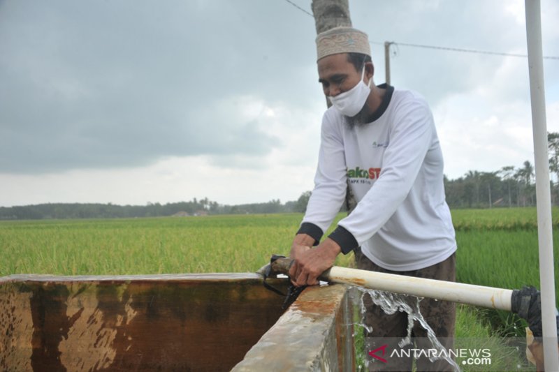
<path id="1" fill-rule="evenodd" d="M 354 370 L 346 286 L 283 301 L 256 274 L 6 276 L 0 371 Z"/>

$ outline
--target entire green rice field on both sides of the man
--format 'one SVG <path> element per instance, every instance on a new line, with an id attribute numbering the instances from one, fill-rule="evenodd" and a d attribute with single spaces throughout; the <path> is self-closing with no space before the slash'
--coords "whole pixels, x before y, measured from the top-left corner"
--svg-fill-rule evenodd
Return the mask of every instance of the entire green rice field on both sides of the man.
<path id="1" fill-rule="evenodd" d="M 558 257 L 559 214 L 557 210 L 553 213 Z M 458 281 L 539 288 L 535 208 L 463 209 L 452 214 L 458 241 Z M 0 276 L 256 271 L 273 253 L 289 254 L 301 217 L 1 221 Z M 352 262 L 351 254 L 340 255 L 336 265 L 351 267 Z M 472 327 L 472 317 L 478 320 L 476 327 Z M 525 325 L 510 313 L 460 306 L 457 319 L 456 332 L 463 337 L 472 337 L 472 332 L 524 335 Z"/>

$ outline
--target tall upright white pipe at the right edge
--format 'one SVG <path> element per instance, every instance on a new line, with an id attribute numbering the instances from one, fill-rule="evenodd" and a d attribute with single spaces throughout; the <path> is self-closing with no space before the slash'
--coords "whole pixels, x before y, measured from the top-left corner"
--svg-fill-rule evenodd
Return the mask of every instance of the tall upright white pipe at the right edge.
<path id="1" fill-rule="evenodd" d="M 525 0 L 525 11 L 536 168 L 539 283 L 542 292 L 544 365 L 546 371 L 559 371 L 555 314 L 555 274 L 553 272 L 551 190 L 549 187 L 549 163 L 547 158 L 542 21 L 539 0 Z"/>

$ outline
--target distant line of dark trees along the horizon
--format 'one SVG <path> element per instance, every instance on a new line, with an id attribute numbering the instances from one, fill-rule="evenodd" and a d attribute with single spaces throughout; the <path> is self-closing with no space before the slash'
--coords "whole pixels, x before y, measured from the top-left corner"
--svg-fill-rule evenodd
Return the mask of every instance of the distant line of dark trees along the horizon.
<path id="1" fill-rule="evenodd" d="M 556 179 L 551 181 L 551 201 L 559 204 L 559 133 L 548 133 L 548 148 L 549 170 Z M 470 170 L 458 179 L 444 177 L 444 188 L 451 208 L 530 207 L 536 203 L 535 171 L 530 161 L 525 161 L 518 168 L 509 165 L 495 172 Z M 146 205 L 36 204 L 0 207 L 0 220 L 304 213 L 310 195 L 310 191 L 305 191 L 298 200 L 284 204 L 277 199 L 264 203 L 225 205 L 208 198 L 167 204 L 147 202 Z"/>

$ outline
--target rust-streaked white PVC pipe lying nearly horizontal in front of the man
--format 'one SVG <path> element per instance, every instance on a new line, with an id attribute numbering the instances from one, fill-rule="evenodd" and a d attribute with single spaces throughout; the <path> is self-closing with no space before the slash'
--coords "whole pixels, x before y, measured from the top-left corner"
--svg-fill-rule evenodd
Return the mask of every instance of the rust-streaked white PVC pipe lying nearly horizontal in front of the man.
<path id="1" fill-rule="evenodd" d="M 337 266 L 326 271 L 321 277 L 328 278 L 328 281 L 333 283 L 358 285 L 364 288 L 401 293 L 402 295 L 428 297 L 459 302 L 460 304 L 511 311 L 512 290 L 502 288 L 436 281 L 434 279 L 385 274 Z"/>

